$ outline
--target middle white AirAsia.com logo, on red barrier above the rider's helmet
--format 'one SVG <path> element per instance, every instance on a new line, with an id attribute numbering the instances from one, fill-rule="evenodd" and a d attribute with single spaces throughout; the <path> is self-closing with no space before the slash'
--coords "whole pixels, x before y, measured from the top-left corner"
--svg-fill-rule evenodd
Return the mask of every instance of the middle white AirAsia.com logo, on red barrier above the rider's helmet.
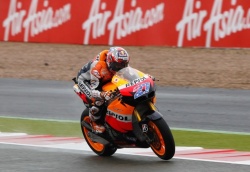
<path id="1" fill-rule="evenodd" d="M 91 38 L 96 39 L 109 32 L 108 44 L 112 45 L 115 39 L 119 40 L 164 20 L 164 3 L 143 11 L 141 7 L 136 7 L 136 0 L 131 0 L 131 10 L 124 12 L 124 2 L 125 0 L 117 0 L 114 14 L 112 14 L 112 11 L 106 10 L 105 2 L 93 0 L 89 17 L 82 24 L 82 29 L 85 30 L 83 44 L 88 44 Z"/>

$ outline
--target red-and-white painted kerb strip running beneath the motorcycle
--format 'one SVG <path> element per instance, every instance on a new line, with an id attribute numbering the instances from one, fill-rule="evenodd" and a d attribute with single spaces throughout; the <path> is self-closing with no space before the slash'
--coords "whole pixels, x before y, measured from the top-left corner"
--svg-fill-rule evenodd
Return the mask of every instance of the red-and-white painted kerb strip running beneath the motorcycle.
<path id="1" fill-rule="evenodd" d="M 1 133 L 0 144 L 11 144 L 19 146 L 46 147 L 67 150 L 91 151 L 88 144 L 82 138 L 67 138 L 53 136 L 32 136 L 25 133 Z M 156 157 L 151 148 L 124 148 L 118 149 L 116 153 L 139 156 Z M 231 157 L 235 157 L 232 159 Z M 229 159 L 228 159 L 229 158 Z M 230 159 L 231 158 L 231 159 Z M 185 159 L 195 161 L 207 161 L 217 163 L 230 163 L 250 165 L 250 152 L 237 152 L 234 150 L 213 150 L 201 147 L 176 147 L 174 159 Z"/>

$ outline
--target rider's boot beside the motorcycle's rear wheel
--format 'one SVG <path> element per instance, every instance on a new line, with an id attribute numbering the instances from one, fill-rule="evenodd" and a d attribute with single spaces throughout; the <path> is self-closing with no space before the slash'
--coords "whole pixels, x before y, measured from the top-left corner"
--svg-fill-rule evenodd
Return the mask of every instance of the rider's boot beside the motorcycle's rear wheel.
<path id="1" fill-rule="evenodd" d="M 98 120 L 101 118 L 98 112 L 99 112 L 99 108 L 96 106 L 92 106 L 89 109 L 89 117 L 91 119 L 91 125 L 92 125 L 93 130 L 96 133 L 103 133 L 105 131 L 105 127 L 98 122 Z"/>

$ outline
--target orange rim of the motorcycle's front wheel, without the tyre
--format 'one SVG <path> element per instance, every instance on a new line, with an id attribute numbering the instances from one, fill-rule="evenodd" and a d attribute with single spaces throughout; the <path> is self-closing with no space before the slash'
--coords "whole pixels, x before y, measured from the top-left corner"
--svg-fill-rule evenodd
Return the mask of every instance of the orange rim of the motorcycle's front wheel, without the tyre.
<path id="1" fill-rule="evenodd" d="M 152 121 L 148 125 L 153 133 L 153 142 L 150 144 L 151 148 L 156 154 L 164 155 L 166 153 L 166 146 L 159 128 Z"/>

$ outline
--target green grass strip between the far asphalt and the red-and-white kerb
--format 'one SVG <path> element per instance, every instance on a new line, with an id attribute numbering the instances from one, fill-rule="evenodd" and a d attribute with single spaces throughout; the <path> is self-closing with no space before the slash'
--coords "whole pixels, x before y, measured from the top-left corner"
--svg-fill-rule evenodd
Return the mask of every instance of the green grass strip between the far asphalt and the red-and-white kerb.
<path id="1" fill-rule="evenodd" d="M 0 132 L 27 133 L 82 137 L 77 121 L 55 121 L 0 117 Z M 209 132 L 208 130 L 172 129 L 176 146 L 195 146 L 209 149 L 235 149 L 250 151 L 250 135 L 247 133 Z"/>

